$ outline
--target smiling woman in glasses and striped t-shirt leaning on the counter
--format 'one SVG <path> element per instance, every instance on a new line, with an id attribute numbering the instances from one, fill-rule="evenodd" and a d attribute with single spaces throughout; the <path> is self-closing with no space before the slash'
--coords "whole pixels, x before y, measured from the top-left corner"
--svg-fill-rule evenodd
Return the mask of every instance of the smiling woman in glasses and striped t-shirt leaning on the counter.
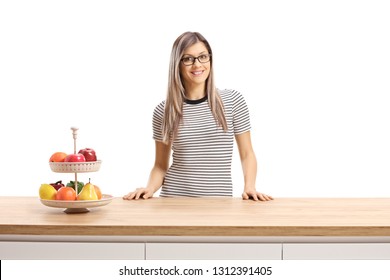
<path id="1" fill-rule="evenodd" d="M 273 199 L 256 191 L 245 100 L 237 91 L 215 87 L 212 64 L 211 47 L 198 32 L 185 32 L 174 42 L 167 97 L 153 113 L 154 166 L 146 187 L 124 199 L 147 199 L 160 188 L 162 197 L 232 196 L 234 139 L 244 173 L 242 198 Z"/>

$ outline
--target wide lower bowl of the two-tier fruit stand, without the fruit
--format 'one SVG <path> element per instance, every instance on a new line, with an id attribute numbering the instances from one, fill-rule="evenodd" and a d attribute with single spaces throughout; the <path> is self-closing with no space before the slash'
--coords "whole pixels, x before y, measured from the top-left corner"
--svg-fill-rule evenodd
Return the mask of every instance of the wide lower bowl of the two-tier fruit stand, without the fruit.
<path id="1" fill-rule="evenodd" d="M 103 194 L 99 200 L 47 200 L 40 199 L 43 205 L 55 208 L 66 208 L 67 214 L 89 212 L 88 208 L 100 207 L 109 204 L 114 197 Z"/>

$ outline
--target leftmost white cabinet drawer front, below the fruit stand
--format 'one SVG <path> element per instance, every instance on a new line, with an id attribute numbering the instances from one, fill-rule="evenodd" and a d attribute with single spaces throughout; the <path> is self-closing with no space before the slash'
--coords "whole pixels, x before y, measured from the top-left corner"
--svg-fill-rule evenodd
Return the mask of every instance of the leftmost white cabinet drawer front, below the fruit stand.
<path id="1" fill-rule="evenodd" d="M 2 260 L 143 260 L 144 258 L 144 243 L 0 242 Z"/>

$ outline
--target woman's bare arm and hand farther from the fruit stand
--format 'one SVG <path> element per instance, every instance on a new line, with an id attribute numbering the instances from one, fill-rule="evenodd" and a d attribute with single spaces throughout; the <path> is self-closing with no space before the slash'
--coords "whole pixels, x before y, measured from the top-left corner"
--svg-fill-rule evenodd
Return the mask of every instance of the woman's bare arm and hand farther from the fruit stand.
<path id="1" fill-rule="evenodd" d="M 242 198 L 262 201 L 272 200 L 271 196 L 256 191 L 257 160 L 252 148 L 250 131 L 237 134 L 235 137 L 244 174 L 245 185 Z"/>

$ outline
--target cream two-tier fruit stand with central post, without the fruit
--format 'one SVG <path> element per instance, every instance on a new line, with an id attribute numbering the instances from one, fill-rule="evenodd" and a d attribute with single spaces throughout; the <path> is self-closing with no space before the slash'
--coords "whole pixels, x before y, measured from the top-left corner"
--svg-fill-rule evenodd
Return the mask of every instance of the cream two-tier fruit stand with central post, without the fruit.
<path id="1" fill-rule="evenodd" d="M 74 154 L 77 153 L 77 127 L 71 127 L 73 134 L 73 149 Z M 102 161 L 86 161 L 86 162 L 50 162 L 50 168 L 57 173 L 74 173 L 75 191 L 78 194 L 77 173 L 87 173 L 99 171 Z M 66 208 L 65 213 L 85 213 L 89 212 L 88 208 L 107 205 L 111 202 L 113 196 L 103 194 L 99 200 L 47 200 L 41 199 L 42 204 L 49 207 Z"/>

